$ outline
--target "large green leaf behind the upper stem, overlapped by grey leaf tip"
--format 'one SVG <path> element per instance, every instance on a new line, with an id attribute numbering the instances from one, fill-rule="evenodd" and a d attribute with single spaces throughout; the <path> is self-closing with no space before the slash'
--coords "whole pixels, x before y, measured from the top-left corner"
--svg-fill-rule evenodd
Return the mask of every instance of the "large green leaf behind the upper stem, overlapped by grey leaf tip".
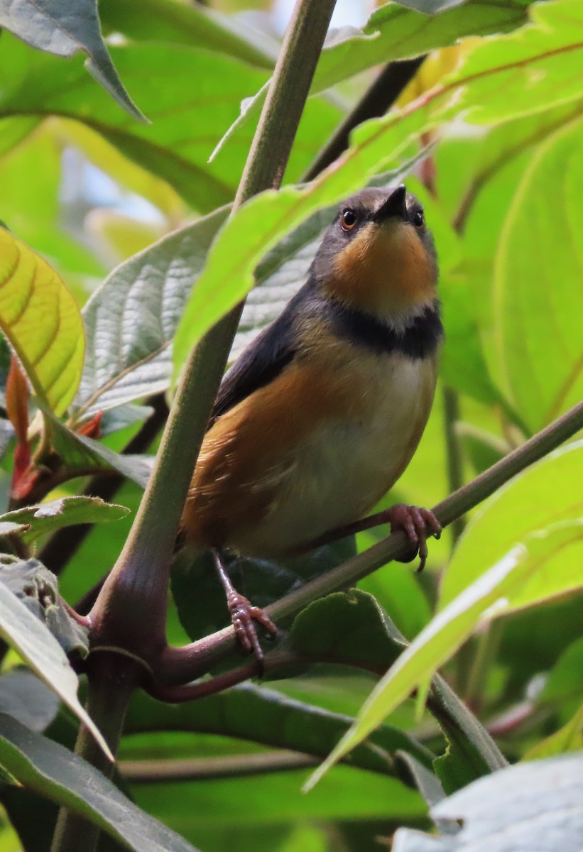
<path id="1" fill-rule="evenodd" d="M 0 118 L 50 113 L 76 118 L 168 181 L 195 209 L 205 213 L 233 199 L 251 145 L 251 129 L 238 135 L 220 164 L 207 161 L 216 140 L 238 114 L 240 100 L 259 88 L 267 73 L 227 55 L 176 44 L 127 44 L 112 48 L 112 54 L 152 124 L 127 122 L 86 78 L 76 58 L 62 63 L 36 54 L 10 36 L 0 54 Z M 309 103 L 288 164 L 292 180 L 308 167 L 340 117 L 338 107 L 324 98 Z"/>

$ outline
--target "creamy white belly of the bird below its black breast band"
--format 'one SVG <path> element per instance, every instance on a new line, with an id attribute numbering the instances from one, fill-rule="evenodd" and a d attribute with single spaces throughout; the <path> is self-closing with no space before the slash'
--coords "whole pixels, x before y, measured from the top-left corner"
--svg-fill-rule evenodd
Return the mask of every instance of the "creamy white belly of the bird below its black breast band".
<path id="1" fill-rule="evenodd" d="M 246 552 L 283 554 L 357 520 L 407 467 L 429 416 L 435 363 L 371 356 L 353 380 L 361 417 L 329 420 L 294 452 Z"/>

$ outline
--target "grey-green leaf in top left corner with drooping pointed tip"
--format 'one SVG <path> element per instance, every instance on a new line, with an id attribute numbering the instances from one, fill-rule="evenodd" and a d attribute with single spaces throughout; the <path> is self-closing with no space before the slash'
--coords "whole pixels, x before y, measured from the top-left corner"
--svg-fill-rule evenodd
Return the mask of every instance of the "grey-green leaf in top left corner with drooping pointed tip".
<path id="1" fill-rule="evenodd" d="M 83 50 L 85 67 L 120 107 L 139 121 L 141 114 L 118 77 L 101 38 L 96 0 L 75 0 L 74 14 L 61 0 L 17 0 L 0 9 L 0 25 L 24 39 L 32 47 L 58 56 L 72 56 Z"/>

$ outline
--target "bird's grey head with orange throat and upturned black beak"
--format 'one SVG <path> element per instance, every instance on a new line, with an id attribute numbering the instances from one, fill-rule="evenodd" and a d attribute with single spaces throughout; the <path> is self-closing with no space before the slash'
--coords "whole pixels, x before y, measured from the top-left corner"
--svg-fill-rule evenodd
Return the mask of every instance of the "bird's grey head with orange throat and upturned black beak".
<path id="1" fill-rule="evenodd" d="M 437 256 L 423 206 L 403 184 L 363 189 L 343 202 L 313 272 L 327 295 L 399 322 L 436 299 Z"/>

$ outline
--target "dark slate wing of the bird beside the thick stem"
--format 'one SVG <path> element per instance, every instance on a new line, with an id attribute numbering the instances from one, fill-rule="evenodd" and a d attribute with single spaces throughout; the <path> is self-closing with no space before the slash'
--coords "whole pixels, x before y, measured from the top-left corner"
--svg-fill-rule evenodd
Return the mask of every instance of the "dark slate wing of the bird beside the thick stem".
<path id="1" fill-rule="evenodd" d="M 296 299 L 292 299 L 283 314 L 257 335 L 225 373 L 216 394 L 209 429 L 217 417 L 272 382 L 291 362 L 296 354 L 297 343 L 292 327 L 296 314 L 295 302 Z"/>

